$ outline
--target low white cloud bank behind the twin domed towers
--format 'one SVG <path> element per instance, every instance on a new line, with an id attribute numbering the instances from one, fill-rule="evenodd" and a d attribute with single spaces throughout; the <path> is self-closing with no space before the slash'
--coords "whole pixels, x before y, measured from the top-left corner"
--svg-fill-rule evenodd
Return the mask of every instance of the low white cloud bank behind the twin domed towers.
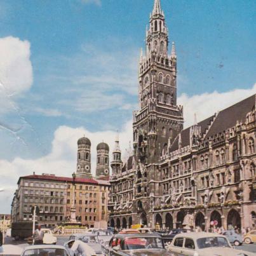
<path id="1" fill-rule="evenodd" d="M 110 158 L 112 158 L 112 150 L 114 140 L 116 138 L 115 131 L 95 131 L 91 132 L 83 127 L 71 128 L 68 126 L 60 126 L 54 133 L 50 154 L 38 159 L 22 159 L 15 158 L 13 161 L 0 159 L 0 180 L 1 187 L 4 192 L 1 192 L 0 212 L 10 212 L 11 199 L 17 188 L 18 177 L 30 175 L 32 172 L 54 173 L 55 175 L 71 177 L 76 171 L 76 152 L 77 139 L 80 137 L 90 138 L 91 140 L 91 169 L 95 175 L 96 168 L 96 147 L 97 144 L 106 142 L 110 147 Z M 123 154 L 129 146 L 129 141 L 132 139 L 132 122 L 129 121 L 123 126 L 119 132 L 120 146 Z"/>

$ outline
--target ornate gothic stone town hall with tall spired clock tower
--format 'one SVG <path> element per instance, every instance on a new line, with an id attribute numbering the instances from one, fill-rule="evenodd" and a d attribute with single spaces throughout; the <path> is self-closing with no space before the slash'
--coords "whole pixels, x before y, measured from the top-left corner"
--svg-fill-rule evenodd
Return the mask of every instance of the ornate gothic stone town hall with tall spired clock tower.
<path id="1" fill-rule="evenodd" d="M 183 129 L 177 55 L 159 0 L 140 57 L 140 110 L 133 112 L 134 155 L 111 163 L 110 224 L 127 227 L 255 225 L 255 95 Z"/>

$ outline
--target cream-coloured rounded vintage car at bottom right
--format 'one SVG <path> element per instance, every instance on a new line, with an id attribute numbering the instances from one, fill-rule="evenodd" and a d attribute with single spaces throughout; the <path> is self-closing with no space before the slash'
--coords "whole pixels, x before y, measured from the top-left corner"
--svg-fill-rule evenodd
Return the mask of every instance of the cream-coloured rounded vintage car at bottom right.
<path id="1" fill-rule="evenodd" d="M 177 234 L 168 247 L 173 256 L 255 256 L 232 248 L 226 236 L 207 232 Z"/>

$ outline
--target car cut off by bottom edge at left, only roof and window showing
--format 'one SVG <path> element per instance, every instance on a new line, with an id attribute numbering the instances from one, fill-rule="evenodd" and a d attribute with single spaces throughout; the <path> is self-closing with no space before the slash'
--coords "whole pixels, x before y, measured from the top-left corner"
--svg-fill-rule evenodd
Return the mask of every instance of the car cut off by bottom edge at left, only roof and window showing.
<path id="1" fill-rule="evenodd" d="M 20 256 L 72 256 L 67 248 L 61 245 L 31 245 L 27 246 Z"/>

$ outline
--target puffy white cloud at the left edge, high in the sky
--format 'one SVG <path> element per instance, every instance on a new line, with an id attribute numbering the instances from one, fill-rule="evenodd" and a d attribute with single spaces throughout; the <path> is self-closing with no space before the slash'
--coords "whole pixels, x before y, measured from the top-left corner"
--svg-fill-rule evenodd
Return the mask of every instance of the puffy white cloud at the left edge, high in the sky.
<path id="1" fill-rule="evenodd" d="M 15 99 L 32 85 L 30 43 L 17 37 L 0 38 L 0 114 L 17 111 Z"/>

